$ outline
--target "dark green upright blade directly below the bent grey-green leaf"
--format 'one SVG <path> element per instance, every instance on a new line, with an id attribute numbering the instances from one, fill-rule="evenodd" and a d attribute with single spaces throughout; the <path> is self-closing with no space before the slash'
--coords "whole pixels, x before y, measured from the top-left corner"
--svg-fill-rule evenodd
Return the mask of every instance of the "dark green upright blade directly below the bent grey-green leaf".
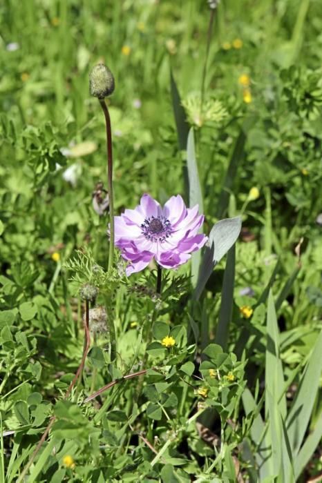
<path id="1" fill-rule="evenodd" d="M 228 341 L 229 325 L 234 305 L 235 245 L 227 255 L 224 279 L 222 282 L 221 304 L 215 342 L 225 350 Z"/>

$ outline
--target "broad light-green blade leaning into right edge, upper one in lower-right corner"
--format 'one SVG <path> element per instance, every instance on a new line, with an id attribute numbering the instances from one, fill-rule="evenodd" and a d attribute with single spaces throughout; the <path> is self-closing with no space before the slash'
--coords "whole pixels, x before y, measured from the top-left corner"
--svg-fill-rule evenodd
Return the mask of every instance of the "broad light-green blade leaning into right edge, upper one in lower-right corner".
<path id="1" fill-rule="evenodd" d="M 307 425 L 310 422 L 312 408 L 316 393 L 319 389 L 319 380 L 322 370 L 322 332 L 316 341 L 312 355 L 305 366 L 299 388 L 292 407 L 287 415 L 286 427 L 290 437 L 290 444 L 296 460 L 303 442 Z"/>

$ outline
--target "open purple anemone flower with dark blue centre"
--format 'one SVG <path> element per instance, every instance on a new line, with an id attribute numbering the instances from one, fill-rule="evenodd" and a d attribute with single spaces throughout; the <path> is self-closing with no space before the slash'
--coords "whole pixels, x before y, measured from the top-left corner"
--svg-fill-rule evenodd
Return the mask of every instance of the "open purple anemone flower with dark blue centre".
<path id="1" fill-rule="evenodd" d="M 140 272 L 154 258 L 164 268 L 176 268 L 207 242 L 198 234 L 204 220 L 198 205 L 186 208 L 180 195 L 162 206 L 149 195 L 143 195 L 134 210 L 115 217 L 115 246 L 129 262 L 126 275 Z"/>

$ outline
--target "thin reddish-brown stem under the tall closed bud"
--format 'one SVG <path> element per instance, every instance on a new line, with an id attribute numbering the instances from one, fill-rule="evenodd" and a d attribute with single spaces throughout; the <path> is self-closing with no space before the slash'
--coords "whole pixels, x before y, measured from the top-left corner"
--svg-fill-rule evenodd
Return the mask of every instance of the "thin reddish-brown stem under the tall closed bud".
<path id="1" fill-rule="evenodd" d="M 114 198 L 113 198 L 113 151 L 112 151 L 112 129 L 111 117 L 104 99 L 98 99 L 104 112 L 106 124 L 106 146 L 107 146 L 107 189 L 110 202 L 110 246 L 108 251 L 107 273 L 113 268 L 114 255 Z"/>

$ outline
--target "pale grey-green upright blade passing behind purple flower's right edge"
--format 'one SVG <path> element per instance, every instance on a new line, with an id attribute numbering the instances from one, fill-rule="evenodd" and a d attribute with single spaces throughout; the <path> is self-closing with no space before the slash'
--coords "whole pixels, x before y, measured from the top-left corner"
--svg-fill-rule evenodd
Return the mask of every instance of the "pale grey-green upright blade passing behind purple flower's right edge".
<path id="1" fill-rule="evenodd" d="M 187 143 L 187 169 L 189 181 L 189 206 L 199 205 L 199 213 L 203 213 L 203 201 L 198 174 L 198 165 L 196 159 L 195 141 L 193 136 L 193 128 L 189 130 Z M 200 250 L 191 255 L 191 283 L 196 286 L 198 280 L 198 271 L 200 266 L 201 252 Z"/>

